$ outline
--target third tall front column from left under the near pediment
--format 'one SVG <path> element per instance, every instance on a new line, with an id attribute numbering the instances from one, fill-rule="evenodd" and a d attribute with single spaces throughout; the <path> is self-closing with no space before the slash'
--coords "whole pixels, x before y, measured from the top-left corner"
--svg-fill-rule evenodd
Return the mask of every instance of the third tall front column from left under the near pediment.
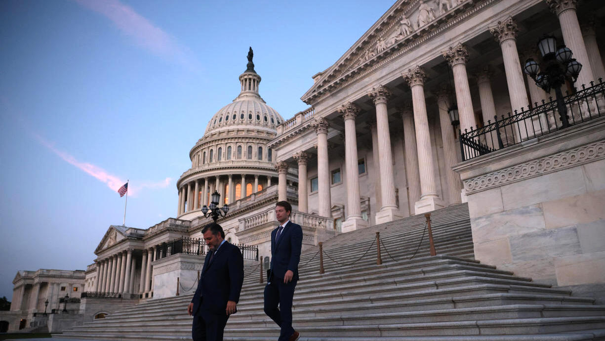
<path id="1" fill-rule="evenodd" d="M 368 93 L 376 105 L 376 130 L 378 131 L 378 154 L 380 157 L 381 210 L 376 213 L 376 223 L 390 222 L 402 217 L 395 204 L 395 186 L 393 181 L 393 153 L 391 136 L 388 130 L 387 101 L 392 93 L 384 85 L 372 88 Z"/>

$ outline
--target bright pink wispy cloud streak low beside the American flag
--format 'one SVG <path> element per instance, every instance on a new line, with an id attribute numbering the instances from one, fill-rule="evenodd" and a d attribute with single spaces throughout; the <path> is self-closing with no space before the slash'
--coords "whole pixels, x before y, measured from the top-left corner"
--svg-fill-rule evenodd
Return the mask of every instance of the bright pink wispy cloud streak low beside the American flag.
<path id="1" fill-rule="evenodd" d="M 65 162 L 95 177 L 100 182 L 103 182 L 103 184 L 106 184 L 107 187 L 111 188 L 111 190 L 117 191 L 120 187 L 122 187 L 123 184 L 126 183 L 126 180 L 120 178 L 119 176 L 111 174 L 110 172 L 104 170 L 103 168 L 97 165 L 93 165 L 88 162 L 78 161 L 76 157 L 54 147 L 54 144 L 48 142 L 46 139 L 44 139 L 44 137 L 39 136 L 38 134 L 33 132 L 31 132 L 31 134 L 36 137 L 40 144 L 44 145 L 44 147 L 48 148 L 48 150 L 52 151 Z M 171 182 L 172 179 L 170 177 L 166 177 L 166 179 L 158 182 L 140 182 L 140 184 L 136 184 L 136 181 L 134 182 L 135 184 L 131 182 L 128 185 L 128 194 L 136 197 L 139 191 L 143 188 L 166 188 L 171 184 Z"/>

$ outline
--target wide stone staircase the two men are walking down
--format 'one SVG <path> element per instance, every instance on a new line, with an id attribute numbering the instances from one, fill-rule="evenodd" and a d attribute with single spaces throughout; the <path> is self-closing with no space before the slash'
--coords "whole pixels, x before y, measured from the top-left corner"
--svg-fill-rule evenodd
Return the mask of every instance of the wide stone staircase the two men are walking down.
<path id="1" fill-rule="evenodd" d="M 434 211 L 431 226 L 437 256 L 428 251 L 424 216 L 333 237 L 324 243 L 324 274 L 318 247 L 305 250 L 293 306 L 300 340 L 605 340 L 605 306 L 474 260 L 466 204 Z M 263 312 L 259 270 L 244 273 L 225 340 L 276 340 L 278 328 Z M 191 340 L 190 300 L 146 300 L 59 337 Z"/>

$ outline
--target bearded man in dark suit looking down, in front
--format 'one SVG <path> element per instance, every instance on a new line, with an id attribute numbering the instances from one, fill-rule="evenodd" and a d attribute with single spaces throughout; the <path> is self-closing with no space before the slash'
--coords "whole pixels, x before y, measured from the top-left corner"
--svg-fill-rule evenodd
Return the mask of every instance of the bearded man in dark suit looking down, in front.
<path id="1" fill-rule="evenodd" d="M 201 233 L 209 250 L 187 312 L 193 315 L 194 341 L 220 341 L 229 315 L 237 312 L 244 259 L 240 248 L 224 240 L 221 225 L 211 223 Z"/>

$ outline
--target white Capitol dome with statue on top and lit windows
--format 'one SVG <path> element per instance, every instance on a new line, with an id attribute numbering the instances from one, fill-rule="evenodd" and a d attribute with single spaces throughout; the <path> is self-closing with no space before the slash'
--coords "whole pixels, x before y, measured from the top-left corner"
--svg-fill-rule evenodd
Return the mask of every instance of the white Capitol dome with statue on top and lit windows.
<path id="1" fill-rule="evenodd" d="M 261 76 L 252 57 L 250 48 L 246 71 L 239 77 L 240 94 L 212 116 L 203 137 L 189 151 L 191 168 L 177 181 L 180 219 L 200 216 L 214 191 L 221 195 L 220 205 L 231 205 L 277 184 L 267 144 L 284 119 L 258 93 Z"/>

